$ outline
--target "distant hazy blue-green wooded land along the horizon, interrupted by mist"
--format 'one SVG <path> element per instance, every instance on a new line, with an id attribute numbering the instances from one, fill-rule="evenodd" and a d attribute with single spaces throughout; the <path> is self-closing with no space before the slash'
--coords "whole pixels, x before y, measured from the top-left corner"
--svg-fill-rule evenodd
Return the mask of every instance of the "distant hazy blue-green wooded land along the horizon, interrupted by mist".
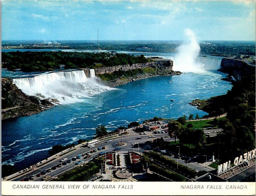
<path id="1" fill-rule="evenodd" d="M 209 41 L 208 43 L 200 43 L 202 54 L 211 54 L 217 56 L 238 56 L 241 54 L 255 55 L 255 42 L 241 42 L 241 41 Z M 38 42 L 40 43 L 40 42 Z M 98 44 L 95 41 L 61 41 L 63 47 L 59 49 L 76 49 L 76 50 L 97 50 Z M 21 44 L 29 44 L 24 42 Z M 136 48 L 148 47 L 152 48 L 154 52 L 177 52 L 177 47 L 180 46 L 180 41 L 161 41 L 161 42 L 150 42 L 150 41 L 100 41 L 100 49 L 104 50 L 121 50 L 121 51 L 136 51 Z M 3 43 L 2 46 L 20 45 L 17 43 Z M 33 48 L 33 45 L 27 46 L 26 48 Z M 36 47 L 38 49 L 45 49 L 45 47 Z M 56 48 L 56 47 L 47 47 Z"/>

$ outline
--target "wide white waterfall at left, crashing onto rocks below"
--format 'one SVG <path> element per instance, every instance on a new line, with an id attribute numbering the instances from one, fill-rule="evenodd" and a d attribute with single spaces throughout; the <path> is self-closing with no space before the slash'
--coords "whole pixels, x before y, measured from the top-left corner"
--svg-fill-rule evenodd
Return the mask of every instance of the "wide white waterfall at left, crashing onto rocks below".
<path id="1" fill-rule="evenodd" d="M 93 70 L 94 71 L 94 70 Z M 98 93 L 98 83 L 86 78 L 83 70 L 41 74 L 30 78 L 16 78 L 13 83 L 27 95 L 55 98 L 61 104 L 83 101 Z M 99 92 L 112 90 L 99 84 Z"/>

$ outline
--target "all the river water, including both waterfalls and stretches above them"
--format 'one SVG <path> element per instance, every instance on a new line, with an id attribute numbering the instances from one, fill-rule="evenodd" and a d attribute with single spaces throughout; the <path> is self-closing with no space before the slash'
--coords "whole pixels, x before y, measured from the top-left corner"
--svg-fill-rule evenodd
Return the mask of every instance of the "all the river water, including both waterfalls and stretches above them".
<path id="1" fill-rule="evenodd" d="M 145 55 L 172 56 L 153 52 Z M 198 57 L 197 61 L 216 70 L 221 59 L 209 56 Z M 97 77 L 86 78 L 83 71 L 78 70 L 44 74 L 2 70 L 2 76 L 13 78 L 26 94 L 41 94 L 61 103 L 39 114 L 3 120 L 2 162 L 24 169 L 49 157 L 48 151 L 53 145 L 92 139 L 99 125 L 111 131 L 154 116 L 177 119 L 182 115 L 198 114 L 202 117 L 207 113 L 188 103 L 193 99 L 226 94 L 232 87 L 230 82 L 221 80 L 226 75 L 219 71 L 188 72 L 110 88 L 98 85 Z"/>

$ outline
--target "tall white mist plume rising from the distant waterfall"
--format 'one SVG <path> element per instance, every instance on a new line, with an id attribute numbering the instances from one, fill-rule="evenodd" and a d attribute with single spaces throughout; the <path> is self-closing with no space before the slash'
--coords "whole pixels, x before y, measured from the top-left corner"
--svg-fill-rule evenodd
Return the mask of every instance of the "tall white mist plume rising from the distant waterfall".
<path id="1" fill-rule="evenodd" d="M 191 29 L 185 29 L 185 34 L 188 37 L 188 42 L 177 48 L 179 52 L 174 57 L 173 70 L 200 72 L 204 67 L 204 64 L 196 60 L 200 53 L 200 45 L 196 41 L 196 35 Z"/>

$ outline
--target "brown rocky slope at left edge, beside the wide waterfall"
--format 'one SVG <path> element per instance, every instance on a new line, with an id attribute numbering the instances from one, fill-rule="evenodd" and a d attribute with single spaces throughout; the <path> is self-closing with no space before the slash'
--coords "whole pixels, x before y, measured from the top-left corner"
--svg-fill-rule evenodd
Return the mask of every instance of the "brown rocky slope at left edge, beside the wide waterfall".
<path id="1" fill-rule="evenodd" d="M 2 78 L 2 119 L 37 114 L 55 103 L 50 99 L 38 100 L 28 96 L 12 83 L 12 79 Z"/>

